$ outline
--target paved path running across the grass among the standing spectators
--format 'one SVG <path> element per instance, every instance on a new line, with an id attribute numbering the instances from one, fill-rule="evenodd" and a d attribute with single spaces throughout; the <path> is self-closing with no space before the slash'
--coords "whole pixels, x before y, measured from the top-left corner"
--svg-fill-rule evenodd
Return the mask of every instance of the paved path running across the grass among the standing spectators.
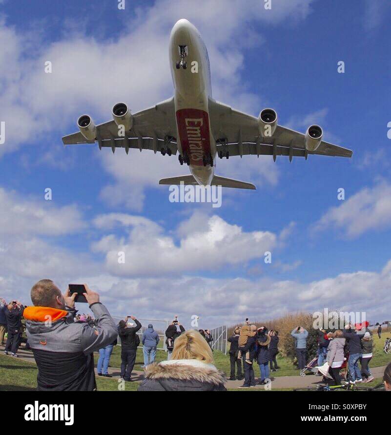
<path id="1" fill-rule="evenodd" d="M 4 351 L 4 346 L 0 346 L 0 352 Z M 21 347 L 18 352 L 20 359 L 24 361 L 29 361 L 35 364 L 34 356 L 32 352 L 28 352 L 24 350 L 24 347 Z M 11 358 L 11 356 L 10 356 Z M 374 367 L 371 368 L 370 371 L 375 378 L 383 377 L 384 369 L 383 367 Z M 257 370 L 257 366 L 255 367 Z M 114 377 L 120 377 L 120 369 L 109 367 L 108 372 Z M 97 373 L 95 369 L 95 373 Z M 144 379 L 144 372 L 139 370 L 133 370 L 132 372 L 132 381 L 142 381 Z M 322 377 L 315 376 L 313 374 L 309 374 L 307 376 L 276 376 L 271 377 L 271 389 L 281 389 L 281 388 L 303 388 L 303 387 L 315 387 L 317 384 L 322 383 Z M 226 388 L 238 388 L 240 385 L 243 385 L 243 381 L 226 381 Z M 365 384 L 364 384 L 365 385 Z M 255 387 L 250 388 L 250 390 L 262 390 L 265 387 L 263 385 L 256 385 Z"/>

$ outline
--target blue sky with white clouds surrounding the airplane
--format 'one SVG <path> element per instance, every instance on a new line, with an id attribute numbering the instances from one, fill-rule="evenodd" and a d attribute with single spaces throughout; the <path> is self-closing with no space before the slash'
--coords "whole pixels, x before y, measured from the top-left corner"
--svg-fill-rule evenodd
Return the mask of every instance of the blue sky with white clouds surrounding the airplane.
<path id="1" fill-rule="evenodd" d="M 185 327 L 324 307 L 391 320 L 391 3 L 264 3 L 0 0 L 0 296 L 28 304 L 50 278 L 86 282 L 113 315 Z M 216 100 L 320 124 L 353 157 L 218 160 L 257 190 L 224 189 L 213 208 L 169 202 L 159 179 L 188 173 L 175 156 L 64 147 L 83 113 L 98 124 L 120 101 L 134 113 L 173 95 L 181 18 L 204 38 Z"/>

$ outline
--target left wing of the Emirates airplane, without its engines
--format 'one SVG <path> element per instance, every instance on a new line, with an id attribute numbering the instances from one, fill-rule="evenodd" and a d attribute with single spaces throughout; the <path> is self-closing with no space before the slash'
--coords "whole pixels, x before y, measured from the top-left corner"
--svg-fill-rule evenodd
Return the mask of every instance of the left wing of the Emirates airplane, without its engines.
<path id="1" fill-rule="evenodd" d="M 162 147 L 170 148 L 172 154 L 177 152 L 174 97 L 158 103 L 149 109 L 133 113 L 133 126 L 126 132 L 125 138 L 118 136 L 118 126 L 113 121 L 97 125 L 97 139 L 87 141 L 81 132 L 69 134 L 62 138 L 64 145 L 94 144 L 99 147 L 151 149 L 156 152 Z"/>

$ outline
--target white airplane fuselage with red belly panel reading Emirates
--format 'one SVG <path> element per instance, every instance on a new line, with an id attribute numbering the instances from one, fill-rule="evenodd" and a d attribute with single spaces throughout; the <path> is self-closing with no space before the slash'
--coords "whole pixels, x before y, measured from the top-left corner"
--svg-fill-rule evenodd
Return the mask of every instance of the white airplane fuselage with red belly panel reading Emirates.
<path id="1" fill-rule="evenodd" d="M 180 46 L 186 47 L 186 69 L 177 68 Z M 207 186 L 213 179 L 214 167 L 204 165 L 204 156 L 211 156 L 215 162 L 217 151 L 208 110 L 208 97 L 212 96 L 209 57 L 199 31 L 187 20 L 179 20 L 172 28 L 170 62 L 178 151 L 188 158 L 197 183 Z"/>

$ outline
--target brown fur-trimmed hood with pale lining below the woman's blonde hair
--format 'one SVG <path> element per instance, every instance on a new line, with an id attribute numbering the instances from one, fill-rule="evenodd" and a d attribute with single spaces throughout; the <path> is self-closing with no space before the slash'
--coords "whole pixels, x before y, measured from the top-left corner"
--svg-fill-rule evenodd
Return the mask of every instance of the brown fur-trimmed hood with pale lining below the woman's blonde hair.
<path id="1" fill-rule="evenodd" d="M 224 385 L 226 375 L 212 364 L 197 360 L 170 360 L 162 363 L 152 363 L 145 368 L 145 378 L 162 380 L 175 379 L 183 381 L 197 381 L 212 385 Z"/>

